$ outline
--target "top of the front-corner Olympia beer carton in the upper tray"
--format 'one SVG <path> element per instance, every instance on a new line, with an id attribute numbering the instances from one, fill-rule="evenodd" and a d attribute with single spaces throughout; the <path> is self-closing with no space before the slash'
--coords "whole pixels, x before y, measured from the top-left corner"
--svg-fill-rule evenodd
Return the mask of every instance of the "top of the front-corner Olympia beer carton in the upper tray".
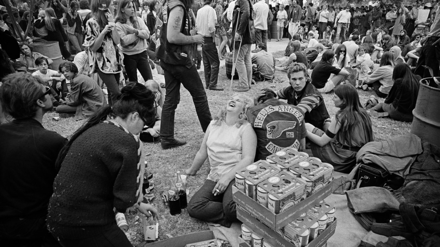
<path id="1" fill-rule="evenodd" d="M 297 196 L 304 195 L 305 182 L 302 179 L 294 177 L 286 171 L 281 171 L 275 176 L 272 176 L 258 184 L 259 187 L 266 190 L 269 194 L 275 196 L 277 199 L 282 199 L 291 195 L 294 191 Z"/>

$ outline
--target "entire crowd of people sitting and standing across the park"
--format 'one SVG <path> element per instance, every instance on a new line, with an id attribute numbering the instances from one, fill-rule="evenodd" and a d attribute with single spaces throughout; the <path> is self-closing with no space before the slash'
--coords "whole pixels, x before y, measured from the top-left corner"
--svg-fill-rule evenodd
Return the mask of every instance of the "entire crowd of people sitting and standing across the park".
<path id="1" fill-rule="evenodd" d="M 132 246 L 114 213 L 137 209 L 158 217 L 143 199 L 143 142 L 160 142 L 163 149 L 186 144 L 174 131 L 181 85 L 205 133 L 186 174 L 197 174 L 207 159 L 210 165 L 187 211 L 230 227 L 237 220 L 236 171 L 294 147 L 349 173 L 359 149 L 374 141 L 370 116 L 411 122 L 419 80 L 440 71 L 437 0 L 339 8 L 303 7 L 296 0 L 67 5 L 40 1 L 33 10 L 14 7 L 17 18 L 2 16 L 0 226 L 7 230 L 0 240 L 7 246 Z M 429 9 L 424 21 L 418 20 L 421 9 Z M 277 41 L 290 40 L 278 65 L 268 52 L 272 21 Z M 42 41 L 59 42 L 64 60 L 58 67 L 33 51 Z M 212 116 L 206 90 L 224 90 L 218 73 L 228 57 L 237 70 L 237 93 Z M 205 84 L 198 73 L 202 61 Z M 276 70 L 286 73 L 286 87 L 243 93 L 273 80 Z M 356 87 L 347 79 L 352 73 Z M 375 95 L 363 105 L 359 90 Z M 334 116 L 324 102 L 328 92 L 334 93 Z M 49 111 L 84 124 L 68 140 L 44 129 Z"/>

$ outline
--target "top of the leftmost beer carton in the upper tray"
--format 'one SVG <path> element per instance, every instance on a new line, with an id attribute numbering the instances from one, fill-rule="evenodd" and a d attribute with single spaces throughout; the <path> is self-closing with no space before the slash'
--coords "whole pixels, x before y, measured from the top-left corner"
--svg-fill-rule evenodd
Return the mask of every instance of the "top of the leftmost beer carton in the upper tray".
<path id="1" fill-rule="evenodd" d="M 254 185 L 257 185 L 261 181 L 264 181 L 264 179 L 277 174 L 278 172 L 278 167 L 271 165 L 266 160 L 259 160 L 248 165 L 245 169 L 237 171 L 236 174 L 242 176 Z"/>

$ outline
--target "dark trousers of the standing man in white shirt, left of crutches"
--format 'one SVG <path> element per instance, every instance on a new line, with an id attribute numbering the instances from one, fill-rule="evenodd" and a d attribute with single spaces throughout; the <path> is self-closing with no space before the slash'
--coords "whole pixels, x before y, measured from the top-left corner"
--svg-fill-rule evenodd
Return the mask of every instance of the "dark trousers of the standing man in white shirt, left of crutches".
<path id="1" fill-rule="evenodd" d="M 202 47 L 202 57 L 206 88 L 217 87 L 220 59 L 213 37 L 205 37 L 205 44 L 203 44 Z"/>

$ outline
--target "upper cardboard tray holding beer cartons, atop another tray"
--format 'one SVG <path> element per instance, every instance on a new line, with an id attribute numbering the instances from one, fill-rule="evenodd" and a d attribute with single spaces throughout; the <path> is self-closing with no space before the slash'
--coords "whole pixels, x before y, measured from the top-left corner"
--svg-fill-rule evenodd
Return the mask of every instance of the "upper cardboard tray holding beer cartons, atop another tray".
<path id="1" fill-rule="evenodd" d="M 267 225 L 273 231 L 278 231 L 292 222 L 293 219 L 298 218 L 309 208 L 315 206 L 316 203 L 319 203 L 327 196 L 330 196 L 338 185 L 337 179 L 334 179 L 332 182 L 330 182 L 330 184 L 324 186 L 324 188 L 320 191 L 279 214 L 272 213 L 270 210 L 268 210 L 268 208 L 254 201 L 249 196 L 246 196 L 246 194 L 242 193 L 238 189 L 234 189 L 234 187 L 232 189 L 232 196 L 235 203 L 242 207 L 243 210 L 249 212 L 253 218 L 257 218 L 260 222 L 263 222 L 264 225 Z"/>

